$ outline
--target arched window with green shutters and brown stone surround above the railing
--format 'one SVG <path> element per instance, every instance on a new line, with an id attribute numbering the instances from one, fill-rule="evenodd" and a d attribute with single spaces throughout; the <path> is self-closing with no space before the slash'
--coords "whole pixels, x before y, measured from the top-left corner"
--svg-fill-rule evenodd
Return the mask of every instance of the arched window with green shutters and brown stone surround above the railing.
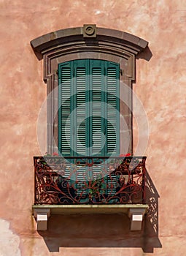
<path id="1" fill-rule="evenodd" d="M 50 154 L 58 150 L 71 156 L 133 153 L 132 82 L 136 56 L 147 44 L 131 34 L 95 25 L 62 29 L 31 41 L 36 56 L 44 59 L 48 95 L 47 151 Z M 96 72 L 100 72 L 99 75 Z M 68 75 L 70 80 L 67 81 Z M 78 91 L 81 91 L 80 86 L 84 86 L 85 93 Z M 84 104 L 83 110 L 80 102 Z M 91 105 L 88 102 L 92 102 Z M 109 109 L 108 105 L 112 104 L 115 107 Z M 100 143 L 104 143 L 104 147 Z"/>

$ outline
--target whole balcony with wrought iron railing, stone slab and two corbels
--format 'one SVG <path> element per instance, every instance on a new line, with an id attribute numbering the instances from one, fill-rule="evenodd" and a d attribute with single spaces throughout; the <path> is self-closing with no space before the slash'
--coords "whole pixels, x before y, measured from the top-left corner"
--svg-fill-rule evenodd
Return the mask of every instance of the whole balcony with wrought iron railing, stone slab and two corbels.
<path id="1" fill-rule="evenodd" d="M 124 213 L 141 230 L 146 157 L 34 157 L 37 230 L 50 214 Z"/>

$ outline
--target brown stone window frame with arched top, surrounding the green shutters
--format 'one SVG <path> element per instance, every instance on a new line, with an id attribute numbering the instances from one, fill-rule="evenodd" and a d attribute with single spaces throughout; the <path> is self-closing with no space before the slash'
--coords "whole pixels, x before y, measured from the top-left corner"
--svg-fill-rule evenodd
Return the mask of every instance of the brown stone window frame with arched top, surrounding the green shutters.
<path id="1" fill-rule="evenodd" d="M 86 28 L 92 29 L 89 33 Z M 87 33 L 88 32 L 88 33 Z M 120 113 L 128 128 L 123 129 L 120 119 L 120 152 L 133 153 L 132 86 L 135 80 L 136 56 L 147 48 L 144 39 L 114 29 L 84 25 L 80 28 L 61 29 L 31 41 L 38 59 L 44 59 L 44 82 L 47 83 L 47 152 L 58 151 L 58 64 L 74 59 L 103 59 L 120 64 Z M 126 138 L 125 135 L 128 135 Z M 125 140 L 129 145 L 125 148 Z"/>

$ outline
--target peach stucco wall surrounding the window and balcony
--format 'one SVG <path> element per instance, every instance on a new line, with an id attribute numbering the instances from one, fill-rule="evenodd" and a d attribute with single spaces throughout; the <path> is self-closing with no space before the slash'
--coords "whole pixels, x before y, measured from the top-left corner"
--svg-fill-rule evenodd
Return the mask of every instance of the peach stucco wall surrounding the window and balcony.
<path id="1" fill-rule="evenodd" d="M 184 256 L 186 2 L 1 0 L 0 13 L 0 255 Z M 35 231 L 33 156 L 40 154 L 36 121 L 46 85 L 42 60 L 36 59 L 30 41 L 84 23 L 126 31 L 149 42 L 148 52 L 136 60 L 133 90 L 149 122 L 144 154 L 158 215 L 152 211 L 155 225 L 144 223 L 139 233 L 129 231 L 128 217 L 117 215 L 52 216 L 47 232 Z M 139 132 L 135 120 L 133 124 L 136 148 Z M 44 123 L 43 138 L 45 128 Z M 147 138 L 145 129 L 140 136 Z"/>

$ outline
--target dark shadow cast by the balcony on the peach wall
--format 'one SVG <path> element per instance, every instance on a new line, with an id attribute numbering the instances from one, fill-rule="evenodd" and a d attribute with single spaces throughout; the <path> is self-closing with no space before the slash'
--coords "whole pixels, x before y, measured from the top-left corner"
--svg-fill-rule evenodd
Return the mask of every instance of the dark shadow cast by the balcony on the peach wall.
<path id="1" fill-rule="evenodd" d="M 147 204 L 150 208 L 142 231 L 130 231 L 126 214 L 52 215 L 47 231 L 39 231 L 50 252 L 60 247 L 141 247 L 144 252 L 161 248 L 158 238 L 158 192 L 147 173 Z"/>

